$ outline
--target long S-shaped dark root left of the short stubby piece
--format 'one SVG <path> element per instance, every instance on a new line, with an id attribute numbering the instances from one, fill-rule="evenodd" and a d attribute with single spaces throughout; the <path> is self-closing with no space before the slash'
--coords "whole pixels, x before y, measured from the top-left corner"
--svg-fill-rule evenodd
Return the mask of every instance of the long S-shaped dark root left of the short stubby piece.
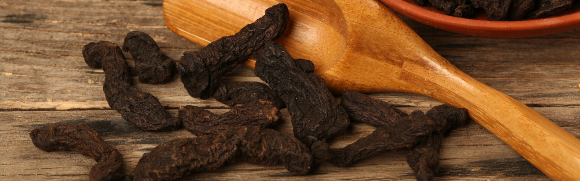
<path id="1" fill-rule="evenodd" d="M 85 62 L 96 65 L 100 62 L 105 72 L 103 91 L 107 102 L 121 116 L 145 131 L 171 131 L 181 122 L 172 118 L 161 106 L 157 97 L 137 90 L 129 81 L 128 67 L 121 48 L 112 42 L 91 42 L 84 46 Z"/>

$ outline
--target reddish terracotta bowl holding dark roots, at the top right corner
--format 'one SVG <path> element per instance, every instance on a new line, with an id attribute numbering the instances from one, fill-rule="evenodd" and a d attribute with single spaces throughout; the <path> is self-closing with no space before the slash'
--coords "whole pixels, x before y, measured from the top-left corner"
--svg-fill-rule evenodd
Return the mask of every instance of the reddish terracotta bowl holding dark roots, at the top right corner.
<path id="1" fill-rule="evenodd" d="M 441 30 L 492 38 L 523 38 L 549 35 L 580 28 L 580 8 L 566 10 L 555 16 L 522 21 L 488 21 L 485 13 L 476 12 L 474 19 L 447 16 L 430 4 L 419 6 L 412 0 L 380 0 L 389 8 Z"/>

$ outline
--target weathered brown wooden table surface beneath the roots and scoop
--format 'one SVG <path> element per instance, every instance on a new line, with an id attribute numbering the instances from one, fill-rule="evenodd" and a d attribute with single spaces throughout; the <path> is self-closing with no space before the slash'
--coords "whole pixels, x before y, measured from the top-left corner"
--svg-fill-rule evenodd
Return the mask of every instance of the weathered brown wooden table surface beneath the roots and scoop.
<path id="1" fill-rule="evenodd" d="M 178 137 L 175 132 L 143 132 L 111 110 L 102 91 L 104 73 L 89 68 L 82 46 L 93 41 L 122 45 L 125 34 L 147 32 L 161 50 L 179 60 L 186 50 L 201 46 L 165 27 L 162 1 L 3 0 L 1 3 L 1 168 L 2 180 L 87 180 L 95 161 L 72 151 L 45 152 L 34 147 L 28 133 L 40 126 L 84 123 L 119 149 L 129 173 L 143 153 Z M 437 30 L 403 19 L 437 52 L 459 69 L 513 96 L 545 117 L 580 136 L 580 29 L 534 38 L 480 38 Z M 129 57 L 128 64 L 133 67 Z M 237 67 L 224 81 L 260 81 L 253 70 Z M 187 95 L 179 78 L 169 84 L 132 82 L 160 99 L 170 113 L 180 106 L 203 106 L 215 113 L 229 109 L 213 99 Z M 429 110 L 442 104 L 409 93 L 371 93 L 401 110 Z M 289 115 L 277 130 L 291 133 Z M 343 147 L 374 130 L 353 124 L 333 140 Z M 235 163 L 215 172 L 194 173 L 182 180 L 414 180 L 404 151 L 383 153 L 338 168 L 320 162 L 307 176 L 284 166 Z M 549 180 L 476 122 L 451 132 L 443 141 L 437 180 Z M 128 180 L 128 178 L 125 178 Z"/>

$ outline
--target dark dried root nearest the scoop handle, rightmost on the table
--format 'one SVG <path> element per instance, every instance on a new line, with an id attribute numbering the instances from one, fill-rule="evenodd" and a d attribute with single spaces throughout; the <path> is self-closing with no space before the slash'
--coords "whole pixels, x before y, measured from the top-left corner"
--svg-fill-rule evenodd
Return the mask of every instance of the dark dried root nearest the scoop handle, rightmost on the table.
<path id="1" fill-rule="evenodd" d="M 465 108 L 455 108 L 445 104 L 431 108 L 426 115 L 435 121 L 435 130 L 405 153 L 407 163 L 419 181 L 433 180 L 438 171 L 439 150 L 445 132 L 465 124 L 467 120 Z"/>

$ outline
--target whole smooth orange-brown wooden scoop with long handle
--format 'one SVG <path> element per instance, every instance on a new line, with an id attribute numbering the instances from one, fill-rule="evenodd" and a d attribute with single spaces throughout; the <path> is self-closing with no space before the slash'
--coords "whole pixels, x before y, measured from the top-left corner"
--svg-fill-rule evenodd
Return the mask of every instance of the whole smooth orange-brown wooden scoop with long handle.
<path id="1" fill-rule="evenodd" d="M 465 107 L 550 178 L 580 180 L 580 140 L 452 66 L 376 0 L 165 0 L 163 9 L 170 30 L 205 46 L 280 2 L 291 21 L 277 42 L 312 60 L 332 92 L 411 92 Z"/>

